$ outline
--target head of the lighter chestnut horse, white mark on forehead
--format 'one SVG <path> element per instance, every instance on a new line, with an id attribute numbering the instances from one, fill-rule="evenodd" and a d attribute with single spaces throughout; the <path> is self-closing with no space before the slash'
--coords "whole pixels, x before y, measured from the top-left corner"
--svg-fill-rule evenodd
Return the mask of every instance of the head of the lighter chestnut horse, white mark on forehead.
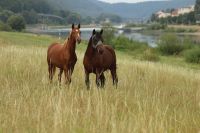
<path id="1" fill-rule="evenodd" d="M 72 31 L 71 31 L 71 37 L 75 38 L 76 42 L 78 44 L 81 43 L 81 31 L 80 31 L 81 25 L 78 24 L 78 27 L 75 27 L 74 24 L 72 24 Z"/>

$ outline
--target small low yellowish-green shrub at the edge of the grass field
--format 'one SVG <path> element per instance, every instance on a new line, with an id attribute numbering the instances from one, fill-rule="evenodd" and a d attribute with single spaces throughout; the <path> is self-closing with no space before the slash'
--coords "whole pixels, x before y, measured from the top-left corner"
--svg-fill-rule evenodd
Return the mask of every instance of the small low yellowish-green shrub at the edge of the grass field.
<path id="1" fill-rule="evenodd" d="M 154 62 L 160 60 L 158 54 L 155 51 L 153 51 L 152 49 L 145 50 L 142 55 L 142 59 L 147 60 L 147 61 L 154 61 Z"/>

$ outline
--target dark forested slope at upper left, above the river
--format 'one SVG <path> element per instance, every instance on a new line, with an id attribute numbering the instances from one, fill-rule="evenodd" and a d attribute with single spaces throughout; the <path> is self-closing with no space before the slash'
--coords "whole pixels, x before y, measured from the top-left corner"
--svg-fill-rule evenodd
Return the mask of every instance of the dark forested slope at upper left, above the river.
<path id="1" fill-rule="evenodd" d="M 68 9 L 54 7 L 49 0 L 0 0 L 0 30 L 10 30 L 15 28 L 15 24 L 21 25 L 21 30 L 25 24 L 53 24 L 66 25 L 71 23 L 90 24 L 99 23 L 109 19 L 111 22 L 121 22 L 121 18 L 113 14 L 100 14 L 96 18 L 81 16 L 79 13 Z"/>

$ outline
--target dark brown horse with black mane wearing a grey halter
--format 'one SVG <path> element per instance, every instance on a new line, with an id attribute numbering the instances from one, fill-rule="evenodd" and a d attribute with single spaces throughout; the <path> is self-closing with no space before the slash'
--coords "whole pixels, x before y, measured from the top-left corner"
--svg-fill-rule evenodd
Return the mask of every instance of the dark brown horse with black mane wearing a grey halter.
<path id="1" fill-rule="evenodd" d="M 116 73 L 116 55 L 114 49 L 109 45 L 103 44 L 103 30 L 96 32 L 93 30 L 85 52 L 83 64 L 85 68 L 85 83 L 89 89 L 89 74 L 96 74 L 97 87 L 104 87 L 104 71 L 110 70 L 113 85 L 117 86 L 118 78 Z"/>

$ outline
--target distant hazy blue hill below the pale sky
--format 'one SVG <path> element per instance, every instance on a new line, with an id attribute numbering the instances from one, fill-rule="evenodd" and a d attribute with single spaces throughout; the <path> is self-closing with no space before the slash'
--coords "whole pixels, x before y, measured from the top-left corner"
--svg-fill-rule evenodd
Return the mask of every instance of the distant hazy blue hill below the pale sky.
<path id="1" fill-rule="evenodd" d="M 172 0 L 160 2 L 142 3 L 117 3 L 109 4 L 98 0 L 49 0 L 53 5 L 61 9 L 69 9 L 82 15 L 97 16 L 100 13 L 111 13 L 129 19 L 147 19 L 152 13 L 161 9 L 177 8 L 192 5 L 195 0 Z M 141 10 L 142 9 L 142 10 Z"/>

